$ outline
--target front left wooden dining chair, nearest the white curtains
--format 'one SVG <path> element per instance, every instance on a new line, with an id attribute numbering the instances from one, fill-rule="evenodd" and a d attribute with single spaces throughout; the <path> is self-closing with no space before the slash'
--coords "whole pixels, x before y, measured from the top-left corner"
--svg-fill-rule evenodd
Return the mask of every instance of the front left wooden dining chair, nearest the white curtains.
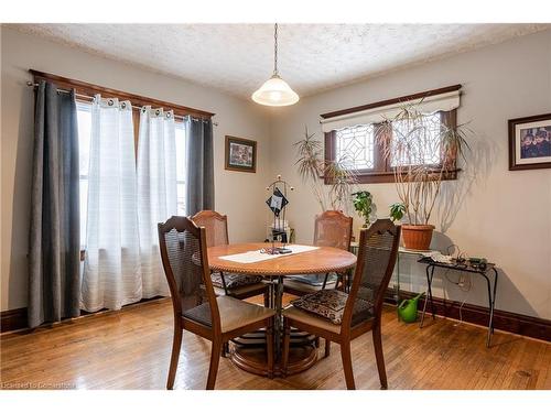
<path id="1" fill-rule="evenodd" d="M 208 270 L 206 230 L 186 217 L 159 224 L 159 244 L 174 311 L 174 337 L 166 388 L 176 377 L 183 330 L 212 341 L 206 389 L 214 389 L 223 344 L 266 328 L 268 374 L 273 371 L 276 312 L 229 295 L 216 296 Z"/>

